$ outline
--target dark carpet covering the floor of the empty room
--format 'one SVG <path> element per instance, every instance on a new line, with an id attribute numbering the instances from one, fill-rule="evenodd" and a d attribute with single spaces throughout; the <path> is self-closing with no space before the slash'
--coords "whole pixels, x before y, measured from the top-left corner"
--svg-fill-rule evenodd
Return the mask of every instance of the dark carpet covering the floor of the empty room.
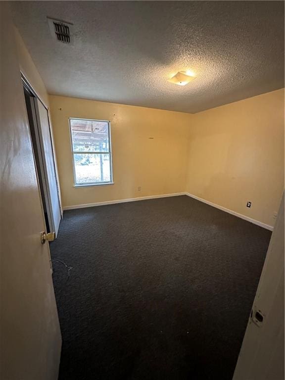
<path id="1" fill-rule="evenodd" d="M 64 212 L 60 380 L 231 380 L 271 232 L 188 196 Z"/>

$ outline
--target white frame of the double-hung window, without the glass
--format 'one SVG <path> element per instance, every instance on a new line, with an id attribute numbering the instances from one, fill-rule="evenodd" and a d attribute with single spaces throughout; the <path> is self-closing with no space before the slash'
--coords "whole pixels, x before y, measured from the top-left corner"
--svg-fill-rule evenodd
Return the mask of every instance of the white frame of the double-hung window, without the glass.
<path id="1" fill-rule="evenodd" d="M 105 122 L 108 124 L 108 138 L 109 138 L 109 150 L 106 152 L 80 152 L 80 151 L 74 151 L 73 150 L 73 140 L 72 140 L 72 128 L 71 128 L 71 120 L 86 120 L 86 121 L 98 121 L 98 122 Z M 73 187 L 75 188 L 82 188 L 82 187 L 88 187 L 88 186 L 106 186 L 106 185 L 113 185 L 113 163 L 112 163 L 112 142 L 111 142 L 111 123 L 109 120 L 98 120 L 98 119 L 85 119 L 82 117 L 69 117 L 68 118 L 69 123 L 69 134 L 70 134 L 70 143 L 71 143 L 71 156 L 72 156 L 72 166 L 73 166 Z M 109 154 L 110 156 L 110 181 L 108 182 L 87 182 L 84 184 L 78 184 L 76 183 L 76 172 L 75 172 L 75 160 L 74 155 L 75 154 Z"/>

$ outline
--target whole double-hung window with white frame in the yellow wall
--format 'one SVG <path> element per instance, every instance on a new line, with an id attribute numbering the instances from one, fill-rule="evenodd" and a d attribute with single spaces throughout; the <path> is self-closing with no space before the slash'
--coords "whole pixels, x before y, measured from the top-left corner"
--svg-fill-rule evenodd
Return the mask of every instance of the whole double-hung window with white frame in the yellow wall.
<path id="1" fill-rule="evenodd" d="M 110 123 L 69 119 L 75 186 L 112 183 Z"/>

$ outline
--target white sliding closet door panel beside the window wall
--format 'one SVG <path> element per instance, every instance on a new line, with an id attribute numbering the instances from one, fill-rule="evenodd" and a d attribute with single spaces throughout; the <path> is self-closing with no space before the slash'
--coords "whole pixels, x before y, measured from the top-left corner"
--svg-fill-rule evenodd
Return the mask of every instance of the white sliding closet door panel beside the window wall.
<path id="1" fill-rule="evenodd" d="M 57 236 L 59 223 L 61 220 L 61 211 L 57 187 L 57 178 L 55 173 L 54 154 L 51 143 L 50 128 L 47 108 L 38 98 L 34 98 L 35 109 L 37 113 L 37 123 L 39 128 L 40 142 L 42 146 L 42 158 L 44 163 L 45 179 L 47 182 L 48 198 L 48 219 L 50 231 L 55 232 Z"/>

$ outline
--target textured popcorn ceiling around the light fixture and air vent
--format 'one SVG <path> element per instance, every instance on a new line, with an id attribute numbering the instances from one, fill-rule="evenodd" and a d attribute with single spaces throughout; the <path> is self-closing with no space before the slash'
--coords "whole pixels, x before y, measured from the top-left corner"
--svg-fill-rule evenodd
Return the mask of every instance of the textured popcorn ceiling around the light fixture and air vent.
<path id="1" fill-rule="evenodd" d="M 283 1 L 12 1 L 49 94 L 195 113 L 284 87 Z M 47 16 L 74 24 L 52 39 Z M 187 86 L 167 82 L 191 69 Z"/>

